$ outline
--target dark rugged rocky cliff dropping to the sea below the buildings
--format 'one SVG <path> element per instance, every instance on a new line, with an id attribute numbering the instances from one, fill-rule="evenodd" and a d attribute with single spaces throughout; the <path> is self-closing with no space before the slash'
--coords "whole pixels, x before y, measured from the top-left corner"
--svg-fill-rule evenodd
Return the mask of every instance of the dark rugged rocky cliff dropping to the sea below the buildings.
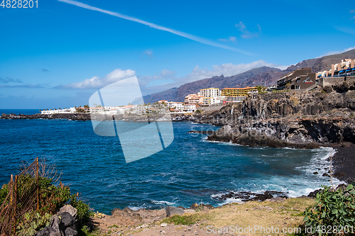
<path id="1" fill-rule="evenodd" d="M 355 143 L 355 84 L 324 90 L 261 94 L 197 122 L 223 125 L 208 140 L 240 145 L 312 148 Z"/>

